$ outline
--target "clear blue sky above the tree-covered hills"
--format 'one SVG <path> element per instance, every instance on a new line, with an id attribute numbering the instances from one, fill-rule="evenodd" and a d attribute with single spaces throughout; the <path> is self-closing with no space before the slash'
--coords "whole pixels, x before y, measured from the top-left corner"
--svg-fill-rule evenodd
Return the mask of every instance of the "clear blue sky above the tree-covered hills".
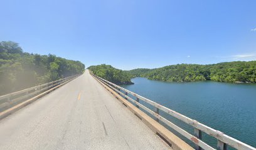
<path id="1" fill-rule="evenodd" d="M 1 1 L 0 41 L 87 67 L 256 60 L 256 1 Z"/>

